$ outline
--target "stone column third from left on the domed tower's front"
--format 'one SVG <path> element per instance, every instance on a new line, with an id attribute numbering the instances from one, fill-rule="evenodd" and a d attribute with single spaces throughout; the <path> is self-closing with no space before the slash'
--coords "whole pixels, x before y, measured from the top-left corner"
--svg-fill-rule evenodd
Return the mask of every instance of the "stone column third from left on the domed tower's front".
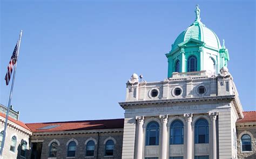
<path id="1" fill-rule="evenodd" d="M 192 113 L 184 114 L 187 123 L 187 159 L 192 159 Z"/>

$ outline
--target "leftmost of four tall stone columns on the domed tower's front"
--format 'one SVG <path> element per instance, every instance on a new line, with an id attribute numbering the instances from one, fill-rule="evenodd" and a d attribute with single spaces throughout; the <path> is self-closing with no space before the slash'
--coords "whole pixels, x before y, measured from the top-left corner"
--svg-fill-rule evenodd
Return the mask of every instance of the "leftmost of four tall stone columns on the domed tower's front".
<path id="1" fill-rule="evenodd" d="M 142 159 L 143 153 L 143 123 L 144 116 L 136 117 L 138 123 L 137 159 Z"/>

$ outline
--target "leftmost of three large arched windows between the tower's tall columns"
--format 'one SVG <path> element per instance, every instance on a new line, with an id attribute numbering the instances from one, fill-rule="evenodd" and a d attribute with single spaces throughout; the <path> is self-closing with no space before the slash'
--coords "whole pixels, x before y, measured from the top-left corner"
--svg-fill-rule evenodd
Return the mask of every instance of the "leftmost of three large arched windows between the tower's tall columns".
<path id="1" fill-rule="evenodd" d="M 151 121 L 147 125 L 146 130 L 146 145 L 159 144 L 159 124 L 156 121 Z"/>

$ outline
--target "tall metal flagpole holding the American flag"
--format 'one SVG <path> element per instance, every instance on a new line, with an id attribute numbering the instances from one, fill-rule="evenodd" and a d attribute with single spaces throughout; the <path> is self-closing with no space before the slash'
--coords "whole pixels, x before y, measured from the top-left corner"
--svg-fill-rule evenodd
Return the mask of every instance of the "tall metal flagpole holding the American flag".
<path id="1" fill-rule="evenodd" d="M 10 90 L 8 107 L 7 107 L 5 123 L 4 123 L 4 134 L 3 134 L 3 140 L 2 140 L 2 144 L 1 144 L 1 150 L 0 150 L 0 158 L 1 159 L 3 158 L 4 140 L 5 140 L 5 134 L 6 134 L 6 129 L 7 129 L 10 105 L 11 105 L 12 90 L 14 89 L 14 81 L 15 81 L 15 74 L 16 74 L 16 68 L 17 68 L 17 62 L 18 62 L 18 56 L 19 56 L 19 45 L 21 44 L 21 37 L 22 37 L 22 30 L 21 30 L 21 33 L 19 34 L 17 57 L 16 57 L 16 63 L 15 63 L 15 67 L 14 67 L 14 76 L 12 76 L 11 90 Z"/>

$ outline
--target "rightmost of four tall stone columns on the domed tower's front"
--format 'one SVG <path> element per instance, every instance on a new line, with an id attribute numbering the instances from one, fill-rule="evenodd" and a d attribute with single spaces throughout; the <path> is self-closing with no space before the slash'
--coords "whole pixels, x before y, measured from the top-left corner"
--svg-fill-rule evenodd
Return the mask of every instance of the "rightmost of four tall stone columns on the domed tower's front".
<path id="1" fill-rule="evenodd" d="M 216 118 L 218 112 L 209 113 L 212 121 L 212 159 L 217 159 Z"/>

